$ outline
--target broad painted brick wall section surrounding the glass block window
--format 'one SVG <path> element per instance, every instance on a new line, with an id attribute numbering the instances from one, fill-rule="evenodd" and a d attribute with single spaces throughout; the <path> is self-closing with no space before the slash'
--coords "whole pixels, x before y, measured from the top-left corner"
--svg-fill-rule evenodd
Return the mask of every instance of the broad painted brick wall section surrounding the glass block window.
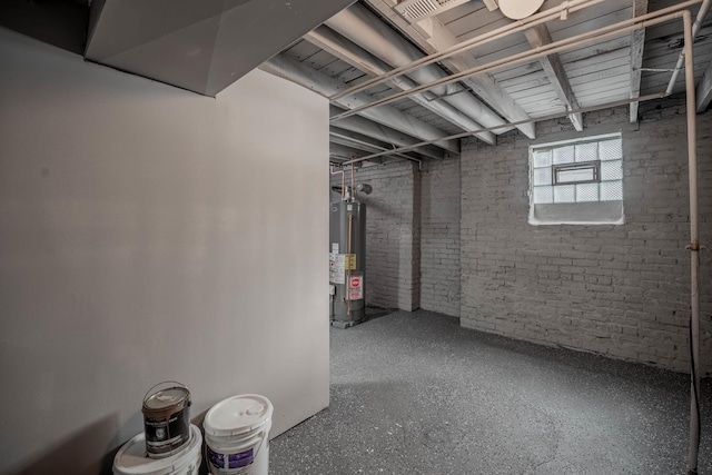
<path id="1" fill-rule="evenodd" d="M 689 368 L 690 317 L 686 122 L 680 99 L 585 116 L 581 136 L 623 129 L 625 225 L 531 226 L 528 145 L 516 131 L 497 147 L 465 142 L 461 159 L 462 325 Z M 712 115 L 698 116 L 701 240 L 712 226 Z M 537 125 L 560 140 L 566 120 Z M 573 138 L 572 133 L 567 138 Z M 702 364 L 712 367 L 710 253 L 702 253 Z"/>

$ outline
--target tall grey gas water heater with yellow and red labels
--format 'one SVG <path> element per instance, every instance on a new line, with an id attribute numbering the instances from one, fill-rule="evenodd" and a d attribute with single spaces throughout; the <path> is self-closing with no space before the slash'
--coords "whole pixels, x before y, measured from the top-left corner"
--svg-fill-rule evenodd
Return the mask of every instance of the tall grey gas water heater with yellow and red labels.
<path id="1" fill-rule="evenodd" d="M 348 328 L 366 318 L 366 204 L 350 187 L 329 206 L 329 319 Z"/>

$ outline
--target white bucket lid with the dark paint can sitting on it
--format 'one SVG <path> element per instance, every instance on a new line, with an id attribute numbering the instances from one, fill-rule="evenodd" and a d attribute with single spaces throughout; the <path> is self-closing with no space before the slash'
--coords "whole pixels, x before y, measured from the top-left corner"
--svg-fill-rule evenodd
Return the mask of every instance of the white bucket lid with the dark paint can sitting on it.
<path id="1" fill-rule="evenodd" d="M 190 442 L 186 448 L 166 458 L 146 455 L 146 434 L 140 433 L 119 449 L 113 457 L 115 475 L 168 475 L 180 472 L 200 458 L 202 436 L 196 425 L 190 425 Z"/>

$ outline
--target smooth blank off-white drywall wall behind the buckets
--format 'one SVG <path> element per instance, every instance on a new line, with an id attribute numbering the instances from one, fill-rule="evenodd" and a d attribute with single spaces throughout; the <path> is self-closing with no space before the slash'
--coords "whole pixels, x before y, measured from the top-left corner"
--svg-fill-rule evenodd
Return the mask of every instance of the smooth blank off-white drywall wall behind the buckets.
<path id="1" fill-rule="evenodd" d="M 177 379 L 194 420 L 328 405 L 328 102 L 217 99 L 0 29 L 0 473 L 97 473 Z M 105 461 L 106 466 L 106 461 Z"/>

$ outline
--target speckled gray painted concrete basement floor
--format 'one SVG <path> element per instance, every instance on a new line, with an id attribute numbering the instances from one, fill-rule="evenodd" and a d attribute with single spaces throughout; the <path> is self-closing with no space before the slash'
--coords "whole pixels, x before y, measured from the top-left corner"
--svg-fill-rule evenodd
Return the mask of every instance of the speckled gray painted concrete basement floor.
<path id="1" fill-rule="evenodd" d="M 332 328 L 330 407 L 270 474 L 685 474 L 689 376 L 396 311 Z M 702 385 L 700 474 L 712 474 Z M 705 432 L 706 431 L 706 432 Z"/>

